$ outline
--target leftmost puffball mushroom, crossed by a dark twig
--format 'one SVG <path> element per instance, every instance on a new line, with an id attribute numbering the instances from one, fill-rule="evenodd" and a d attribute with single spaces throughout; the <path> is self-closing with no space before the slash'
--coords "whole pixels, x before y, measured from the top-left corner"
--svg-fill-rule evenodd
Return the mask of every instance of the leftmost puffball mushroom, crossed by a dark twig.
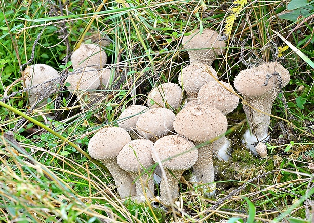
<path id="1" fill-rule="evenodd" d="M 46 64 L 34 64 L 28 66 L 24 71 L 25 87 L 29 88 L 35 85 L 38 85 L 35 88 L 32 88 L 28 92 L 29 103 L 33 105 L 37 99 L 47 98 L 51 92 L 57 89 L 56 83 L 57 80 L 53 80 L 59 77 L 58 71 L 53 67 Z M 53 80 L 44 85 L 40 85 L 45 81 Z"/>

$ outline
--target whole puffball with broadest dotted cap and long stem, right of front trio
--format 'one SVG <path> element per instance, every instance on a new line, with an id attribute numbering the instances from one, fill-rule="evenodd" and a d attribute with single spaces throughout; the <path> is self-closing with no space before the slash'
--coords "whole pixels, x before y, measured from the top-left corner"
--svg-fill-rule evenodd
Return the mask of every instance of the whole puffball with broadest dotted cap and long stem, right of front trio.
<path id="1" fill-rule="evenodd" d="M 183 108 L 173 123 L 174 130 L 187 139 L 202 145 L 227 131 L 227 118 L 217 108 L 206 104 Z M 212 151 L 215 143 L 207 143 L 198 148 L 199 157 L 194 164 L 195 182 L 202 182 L 204 194 L 210 196 L 215 191 Z"/>

